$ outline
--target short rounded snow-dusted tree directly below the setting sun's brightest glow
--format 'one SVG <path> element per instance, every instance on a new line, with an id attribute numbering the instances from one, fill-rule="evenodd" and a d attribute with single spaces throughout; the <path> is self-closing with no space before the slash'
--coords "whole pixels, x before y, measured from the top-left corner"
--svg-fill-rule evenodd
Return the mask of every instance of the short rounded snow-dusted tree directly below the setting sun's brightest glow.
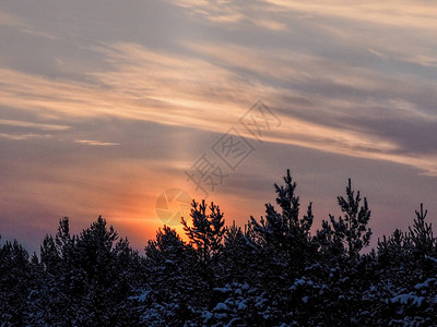
<path id="1" fill-rule="evenodd" d="M 193 317 L 208 294 L 191 245 L 164 226 L 145 247 L 146 282 L 132 298 L 143 326 L 181 326 Z"/>

